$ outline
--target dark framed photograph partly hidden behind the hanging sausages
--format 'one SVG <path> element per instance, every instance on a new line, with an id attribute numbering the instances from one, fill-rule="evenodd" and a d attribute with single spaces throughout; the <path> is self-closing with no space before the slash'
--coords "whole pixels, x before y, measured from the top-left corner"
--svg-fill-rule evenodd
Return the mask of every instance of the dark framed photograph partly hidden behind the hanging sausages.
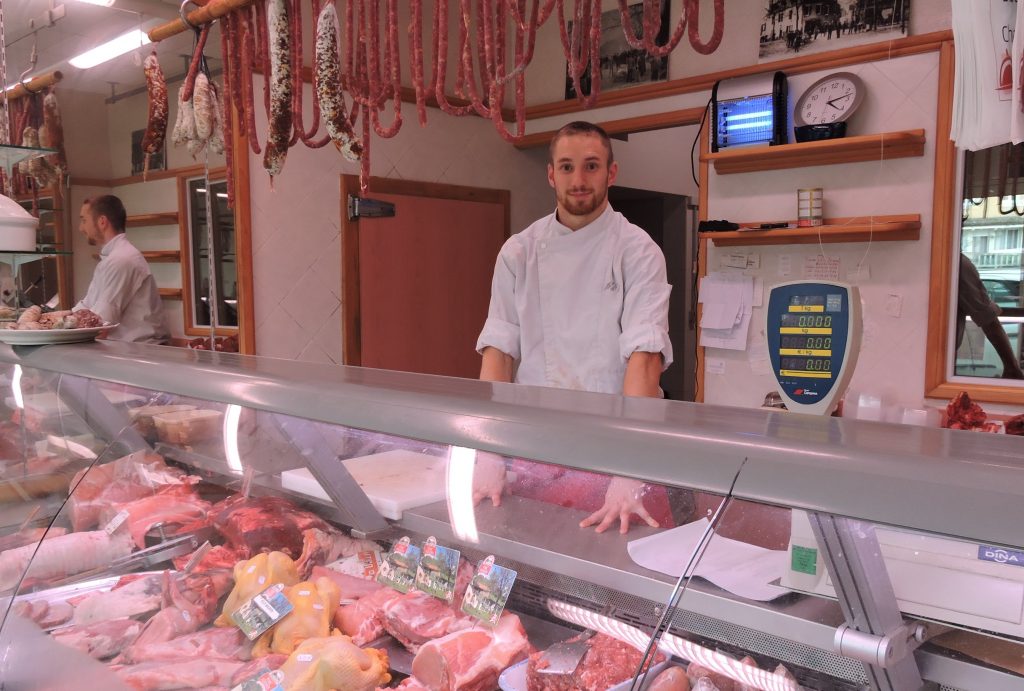
<path id="1" fill-rule="evenodd" d="M 662 29 L 654 39 L 656 45 L 669 42 L 669 0 L 662 0 Z M 629 6 L 630 19 L 633 23 L 634 36 L 643 32 L 643 3 Z M 678 19 L 678 17 L 676 17 Z M 572 23 L 568 23 L 567 31 L 572 34 Z M 638 86 L 650 82 L 664 82 L 669 78 L 669 56 L 652 57 L 647 51 L 633 48 L 626 42 L 623 31 L 623 14 L 616 7 L 601 12 L 601 91 L 611 91 L 629 86 Z M 580 88 L 584 94 L 590 93 L 590 67 L 580 77 Z M 568 66 L 565 69 L 565 97 L 575 98 L 575 87 Z"/>

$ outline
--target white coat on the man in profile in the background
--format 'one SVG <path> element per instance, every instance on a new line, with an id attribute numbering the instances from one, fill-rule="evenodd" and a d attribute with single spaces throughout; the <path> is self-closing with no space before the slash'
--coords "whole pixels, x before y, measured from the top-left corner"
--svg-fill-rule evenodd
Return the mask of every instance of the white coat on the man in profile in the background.
<path id="1" fill-rule="evenodd" d="M 108 338 L 136 343 L 166 343 L 164 307 L 142 253 L 118 233 L 99 251 L 92 283 L 75 309 L 90 309 L 103 321 L 120 323 Z"/>

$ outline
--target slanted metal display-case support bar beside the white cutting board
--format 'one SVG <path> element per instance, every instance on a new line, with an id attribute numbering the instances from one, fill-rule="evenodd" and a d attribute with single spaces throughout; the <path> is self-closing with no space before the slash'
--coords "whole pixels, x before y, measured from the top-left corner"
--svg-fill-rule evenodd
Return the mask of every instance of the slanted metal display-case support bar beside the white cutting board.
<path id="1" fill-rule="evenodd" d="M 356 537 L 373 539 L 388 533 L 391 525 L 374 508 L 345 464 L 328 450 L 328 442 L 314 425 L 305 420 L 274 415 L 281 433 L 292 442 L 306 462 L 321 487 L 352 527 Z"/>

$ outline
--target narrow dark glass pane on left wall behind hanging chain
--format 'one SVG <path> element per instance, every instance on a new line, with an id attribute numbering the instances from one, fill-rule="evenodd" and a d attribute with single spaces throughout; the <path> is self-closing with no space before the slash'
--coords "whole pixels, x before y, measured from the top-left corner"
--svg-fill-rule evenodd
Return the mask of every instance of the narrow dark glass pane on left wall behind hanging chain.
<path id="1" fill-rule="evenodd" d="M 216 286 L 216 326 L 237 329 L 238 273 L 234 253 L 234 214 L 227 207 L 227 183 L 189 178 L 185 181 L 188 200 L 188 237 L 182 242 L 188 256 L 182 266 L 185 288 L 187 323 L 196 330 L 210 329 L 210 254 L 213 253 L 214 285 Z M 209 206 L 208 206 L 209 203 Z M 212 218 L 212 235 L 207 231 L 208 209 Z M 213 246 L 210 246 L 212 236 Z M 198 332 L 197 332 L 198 333 Z"/>

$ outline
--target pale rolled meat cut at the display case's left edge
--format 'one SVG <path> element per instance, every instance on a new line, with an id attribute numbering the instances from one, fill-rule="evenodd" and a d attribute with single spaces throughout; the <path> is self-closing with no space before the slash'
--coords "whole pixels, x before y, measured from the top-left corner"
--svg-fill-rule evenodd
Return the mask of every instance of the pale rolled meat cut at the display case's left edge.
<path id="1" fill-rule="evenodd" d="M 17 585 L 26 570 L 26 581 L 65 578 L 109 565 L 131 551 L 131 535 L 126 532 L 109 535 L 103 530 L 93 530 L 47 537 L 39 544 L 38 551 L 36 545 L 26 545 L 0 553 L 0 591 Z"/>

